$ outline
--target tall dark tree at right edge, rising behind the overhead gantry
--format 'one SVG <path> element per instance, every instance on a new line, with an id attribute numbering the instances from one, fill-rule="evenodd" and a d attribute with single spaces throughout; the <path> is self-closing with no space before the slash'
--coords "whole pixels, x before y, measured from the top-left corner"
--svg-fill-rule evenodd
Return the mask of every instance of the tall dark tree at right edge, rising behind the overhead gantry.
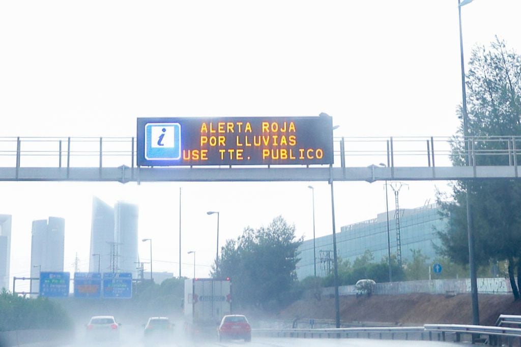
<path id="1" fill-rule="evenodd" d="M 490 48 L 476 47 L 469 61 L 468 132 L 480 137 L 474 142 L 477 165 L 508 165 L 510 154 L 487 155 L 492 149 L 508 148 L 513 136 L 521 134 L 521 57 L 496 40 Z M 460 119 L 461 117 L 460 109 Z M 463 122 L 459 129 L 463 134 Z M 520 143 L 516 142 L 516 146 Z M 464 144 L 454 138 L 452 161 L 465 161 Z M 481 155 L 479 155 L 481 153 Z M 521 157 L 516 158 L 517 160 Z M 473 180 L 452 186 L 453 202 L 441 202 L 449 217 L 448 229 L 438 232 L 440 254 L 460 264 L 468 264 L 466 192 L 468 189 L 479 265 L 490 261 L 508 262 L 508 277 L 515 299 L 521 287 L 521 183 L 515 179 Z M 439 199 L 441 200 L 441 199 Z M 517 271 L 518 283 L 515 282 Z"/>

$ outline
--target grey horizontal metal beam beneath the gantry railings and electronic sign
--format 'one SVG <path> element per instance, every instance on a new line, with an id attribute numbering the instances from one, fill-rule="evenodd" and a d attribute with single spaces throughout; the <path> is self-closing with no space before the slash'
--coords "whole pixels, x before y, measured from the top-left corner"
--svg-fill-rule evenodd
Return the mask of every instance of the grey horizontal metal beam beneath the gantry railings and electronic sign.
<path id="1" fill-rule="evenodd" d="M 272 182 L 272 181 L 451 181 L 518 178 L 513 166 L 436 168 L 0 168 L 0 181 L 73 182 Z"/>

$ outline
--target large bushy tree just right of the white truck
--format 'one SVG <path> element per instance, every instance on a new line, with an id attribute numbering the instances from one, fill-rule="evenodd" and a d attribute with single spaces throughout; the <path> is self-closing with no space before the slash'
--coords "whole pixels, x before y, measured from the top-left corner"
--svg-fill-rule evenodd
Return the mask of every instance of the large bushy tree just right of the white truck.
<path id="1" fill-rule="evenodd" d="M 299 290 L 295 269 L 301 243 L 302 237 L 295 236 L 295 226 L 282 216 L 267 227 L 246 227 L 237 240 L 226 241 L 218 272 L 214 267 L 212 275 L 232 278 L 235 303 L 279 307 Z"/>

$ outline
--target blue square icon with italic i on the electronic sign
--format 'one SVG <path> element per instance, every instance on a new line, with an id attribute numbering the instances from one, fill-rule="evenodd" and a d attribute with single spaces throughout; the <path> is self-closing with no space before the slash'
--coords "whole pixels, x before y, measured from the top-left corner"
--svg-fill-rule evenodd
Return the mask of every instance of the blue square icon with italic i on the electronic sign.
<path id="1" fill-rule="evenodd" d="M 147 123 L 145 125 L 145 159 L 181 159 L 181 124 Z"/>

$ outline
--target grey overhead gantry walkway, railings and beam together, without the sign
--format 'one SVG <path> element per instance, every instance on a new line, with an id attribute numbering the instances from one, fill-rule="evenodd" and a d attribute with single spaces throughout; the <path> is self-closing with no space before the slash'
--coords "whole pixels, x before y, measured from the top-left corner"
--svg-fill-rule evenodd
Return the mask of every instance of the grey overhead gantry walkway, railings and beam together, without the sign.
<path id="1" fill-rule="evenodd" d="M 374 182 L 514 178 L 518 177 L 521 160 L 521 136 L 335 137 L 333 153 L 331 167 L 139 168 L 135 137 L 0 137 L 0 181 Z M 233 171 L 222 173 L 225 169 Z"/>

